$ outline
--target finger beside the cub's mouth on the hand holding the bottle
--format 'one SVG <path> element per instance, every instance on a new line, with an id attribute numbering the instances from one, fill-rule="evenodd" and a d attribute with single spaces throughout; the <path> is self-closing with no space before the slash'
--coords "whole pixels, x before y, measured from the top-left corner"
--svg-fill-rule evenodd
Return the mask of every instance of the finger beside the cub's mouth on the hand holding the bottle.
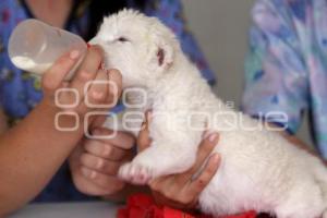
<path id="1" fill-rule="evenodd" d="M 71 82 L 71 87 L 77 90 L 80 100 L 83 99 L 84 88 L 86 88 L 87 82 L 93 81 L 96 77 L 101 61 L 101 48 L 98 46 L 89 47 L 80 70 Z"/>

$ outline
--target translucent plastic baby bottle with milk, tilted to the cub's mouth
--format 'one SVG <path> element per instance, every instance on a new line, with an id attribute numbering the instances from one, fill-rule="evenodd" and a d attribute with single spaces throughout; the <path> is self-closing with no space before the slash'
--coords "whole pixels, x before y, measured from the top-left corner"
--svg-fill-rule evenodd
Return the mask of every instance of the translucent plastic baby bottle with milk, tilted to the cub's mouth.
<path id="1" fill-rule="evenodd" d="M 8 47 L 13 64 L 36 75 L 45 73 L 60 56 L 71 50 L 78 50 L 81 58 L 66 75 L 66 81 L 72 78 L 87 50 L 80 36 L 29 19 L 16 26 Z"/>

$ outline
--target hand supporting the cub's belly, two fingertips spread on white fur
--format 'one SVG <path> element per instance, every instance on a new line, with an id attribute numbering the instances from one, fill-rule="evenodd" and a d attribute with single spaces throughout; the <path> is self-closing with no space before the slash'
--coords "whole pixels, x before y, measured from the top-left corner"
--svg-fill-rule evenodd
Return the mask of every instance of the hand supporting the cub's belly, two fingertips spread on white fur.
<path id="1" fill-rule="evenodd" d="M 150 145 L 148 134 L 149 114 L 146 118 L 137 138 L 137 146 L 141 153 Z M 157 204 L 178 209 L 194 209 L 196 207 L 201 192 L 210 182 L 220 164 L 218 154 L 210 155 L 219 141 L 219 135 L 217 133 L 204 135 L 205 137 L 197 152 L 196 161 L 190 170 L 150 181 L 149 187 Z M 206 159 L 208 160 L 205 168 L 197 174 Z"/>

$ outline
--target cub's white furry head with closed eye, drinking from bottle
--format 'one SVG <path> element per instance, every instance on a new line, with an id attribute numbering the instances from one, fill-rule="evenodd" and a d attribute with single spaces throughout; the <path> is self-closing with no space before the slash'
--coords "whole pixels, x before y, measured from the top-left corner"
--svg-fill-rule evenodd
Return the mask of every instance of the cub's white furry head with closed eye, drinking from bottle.
<path id="1" fill-rule="evenodd" d="M 180 50 L 174 34 L 159 20 L 133 10 L 105 17 L 90 43 L 104 48 L 106 68 L 121 71 L 123 87 L 156 83 Z"/>

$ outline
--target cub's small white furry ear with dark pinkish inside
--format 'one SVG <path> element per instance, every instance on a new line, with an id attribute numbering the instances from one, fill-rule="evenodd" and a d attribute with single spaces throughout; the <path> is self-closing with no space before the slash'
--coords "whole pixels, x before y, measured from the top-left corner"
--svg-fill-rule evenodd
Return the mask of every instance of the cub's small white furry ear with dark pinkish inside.
<path id="1" fill-rule="evenodd" d="M 173 44 L 165 40 L 165 37 L 157 36 L 154 40 L 153 48 L 150 49 L 150 64 L 159 71 L 169 70 L 173 63 Z"/>

